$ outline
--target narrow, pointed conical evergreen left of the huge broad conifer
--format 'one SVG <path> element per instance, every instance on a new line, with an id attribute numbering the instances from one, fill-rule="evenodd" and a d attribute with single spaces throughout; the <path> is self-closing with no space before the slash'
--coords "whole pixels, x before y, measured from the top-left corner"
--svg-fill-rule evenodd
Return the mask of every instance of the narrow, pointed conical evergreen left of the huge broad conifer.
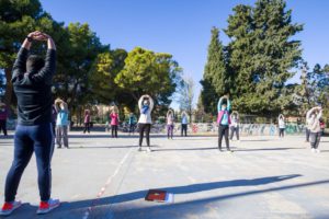
<path id="1" fill-rule="evenodd" d="M 230 81 L 231 77 L 227 70 L 224 46 L 219 41 L 219 30 L 213 27 L 207 62 L 201 81 L 203 85 L 201 101 L 205 106 L 205 112 L 216 112 L 218 99 L 230 91 Z"/>

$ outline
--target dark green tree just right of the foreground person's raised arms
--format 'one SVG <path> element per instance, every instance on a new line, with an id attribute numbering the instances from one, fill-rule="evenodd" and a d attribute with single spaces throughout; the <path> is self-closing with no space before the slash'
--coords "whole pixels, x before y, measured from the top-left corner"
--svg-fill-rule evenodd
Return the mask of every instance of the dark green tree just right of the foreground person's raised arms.
<path id="1" fill-rule="evenodd" d="M 75 110 L 95 101 L 91 96 L 89 79 L 98 55 L 109 50 L 109 46 L 100 43 L 87 23 L 70 23 L 66 31 L 69 44 L 61 54 L 61 68 L 55 77 L 55 92 Z"/>

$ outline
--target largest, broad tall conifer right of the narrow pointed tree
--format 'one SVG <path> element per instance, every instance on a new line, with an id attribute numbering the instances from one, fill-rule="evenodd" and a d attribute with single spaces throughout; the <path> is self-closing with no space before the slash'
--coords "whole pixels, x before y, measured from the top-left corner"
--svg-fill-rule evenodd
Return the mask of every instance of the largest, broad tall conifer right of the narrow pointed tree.
<path id="1" fill-rule="evenodd" d="M 258 0 L 254 7 L 237 5 L 228 19 L 228 62 L 240 112 L 276 115 L 287 107 L 291 96 L 283 90 L 302 54 L 300 42 L 292 37 L 303 25 L 293 24 L 285 8 L 283 0 Z"/>

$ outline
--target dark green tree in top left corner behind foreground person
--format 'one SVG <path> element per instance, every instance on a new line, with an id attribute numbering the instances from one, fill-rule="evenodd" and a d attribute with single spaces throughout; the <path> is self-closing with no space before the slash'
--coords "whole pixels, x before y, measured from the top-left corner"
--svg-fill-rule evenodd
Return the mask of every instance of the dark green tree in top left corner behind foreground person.
<path id="1" fill-rule="evenodd" d="M 0 69 L 5 74 L 4 102 L 12 103 L 11 71 L 16 53 L 27 33 L 42 30 L 54 21 L 43 11 L 38 0 L 0 1 Z"/>

